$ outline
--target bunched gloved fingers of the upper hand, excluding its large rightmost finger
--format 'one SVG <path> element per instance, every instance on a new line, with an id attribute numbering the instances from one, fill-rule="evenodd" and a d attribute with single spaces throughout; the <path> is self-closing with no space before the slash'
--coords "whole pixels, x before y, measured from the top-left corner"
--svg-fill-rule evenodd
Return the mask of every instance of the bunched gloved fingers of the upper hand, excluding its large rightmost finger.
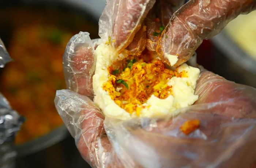
<path id="1" fill-rule="evenodd" d="M 158 37 L 153 33 L 166 26 L 182 4 L 184 0 L 109 0 L 99 19 L 99 36 L 109 39 L 117 51 L 128 46 L 131 54 L 139 55 L 146 40 L 147 48 L 155 51 Z"/>

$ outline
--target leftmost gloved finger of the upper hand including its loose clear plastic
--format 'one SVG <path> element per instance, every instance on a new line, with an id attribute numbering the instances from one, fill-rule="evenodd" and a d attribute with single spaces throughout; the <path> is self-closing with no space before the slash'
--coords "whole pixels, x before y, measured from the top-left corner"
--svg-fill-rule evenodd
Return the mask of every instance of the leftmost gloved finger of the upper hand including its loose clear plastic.
<path id="1" fill-rule="evenodd" d="M 109 39 L 117 51 L 131 43 L 155 0 L 108 0 L 99 19 L 99 37 Z"/>

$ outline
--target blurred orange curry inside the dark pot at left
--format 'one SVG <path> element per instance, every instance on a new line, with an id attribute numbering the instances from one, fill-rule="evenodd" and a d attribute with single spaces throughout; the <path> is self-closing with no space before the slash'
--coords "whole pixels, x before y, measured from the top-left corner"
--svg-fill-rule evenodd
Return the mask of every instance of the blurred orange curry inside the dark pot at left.
<path id="1" fill-rule="evenodd" d="M 62 125 L 54 107 L 57 89 L 65 88 L 62 56 L 72 35 L 97 25 L 78 15 L 27 8 L 0 12 L 0 35 L 14 59 L 1 73 L 0 92 L 26 118 L 16 137 L 24 143 Z M 5 42 L 6 43 L 6 42 Z"/>

